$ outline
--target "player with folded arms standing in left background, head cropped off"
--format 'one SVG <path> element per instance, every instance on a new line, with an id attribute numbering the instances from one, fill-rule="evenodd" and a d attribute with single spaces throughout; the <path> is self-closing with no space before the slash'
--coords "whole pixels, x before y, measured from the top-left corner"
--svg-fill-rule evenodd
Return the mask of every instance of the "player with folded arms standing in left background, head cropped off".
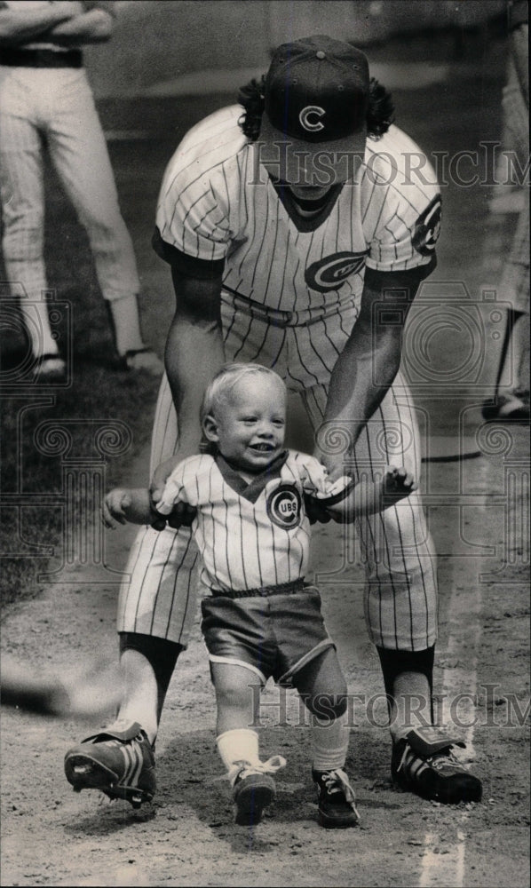
<path id="1" fill-rule="evenodd" d="M 139 326 L 139 277 L 81 46 L 106 41 L 113 3 L 0 0 L 4 265 L 21 284 L 37 377 L 65 371 L 45 300 L 43 142 L 87 230 L 123 369 L 162 373 Z M 37 360 L 38 359 L 38 360 Z"/>

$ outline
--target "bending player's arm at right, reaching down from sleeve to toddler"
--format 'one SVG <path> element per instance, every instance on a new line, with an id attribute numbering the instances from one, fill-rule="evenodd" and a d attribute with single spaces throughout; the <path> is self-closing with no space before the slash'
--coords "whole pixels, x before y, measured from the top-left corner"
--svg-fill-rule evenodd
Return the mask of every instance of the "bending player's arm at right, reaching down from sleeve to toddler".
<path id="1" fill-rule="evenodd" d="M 402 334 L 425 266 L 401 272 L 368 268 L 361 310 L 330 377 L 329 399 L 316 453 L 332 479 L 343 474 L 343 454 L 327 453 L 334 430 L 348 430 L 351 447 L 384 399 L 400 368 Z"/>

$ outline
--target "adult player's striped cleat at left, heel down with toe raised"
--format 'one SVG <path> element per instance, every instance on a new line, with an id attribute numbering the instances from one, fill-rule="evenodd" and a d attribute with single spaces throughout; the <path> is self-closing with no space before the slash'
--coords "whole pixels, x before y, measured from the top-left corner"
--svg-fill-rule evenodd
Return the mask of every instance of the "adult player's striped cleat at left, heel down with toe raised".
<path id="1" fill-rule="evenodd" d="M 117 721 L 69 749 L 65 773 L 75 792 L 99 789 L 133 808 L 155 795 L 155 756 L 138 722 Z"/>

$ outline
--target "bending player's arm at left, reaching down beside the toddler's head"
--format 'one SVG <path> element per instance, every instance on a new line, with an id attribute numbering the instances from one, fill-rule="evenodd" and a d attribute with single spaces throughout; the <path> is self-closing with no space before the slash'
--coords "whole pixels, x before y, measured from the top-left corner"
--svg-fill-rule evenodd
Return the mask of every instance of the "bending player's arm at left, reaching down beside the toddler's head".
<path id="1" fill-rule="evenodd" d="M 151 485 L 154 502 L 164 481 L 186 456 L 199 451 L 199 409 L 210 379 L 225 361 L 221 333 L 222 274 L 205 278 L 183 274 L 171 266 L 176 309 L 166 340 L 164 361 L 178 415 L 178 454 L 162 463 Z M 170 521 L 171 524 L 171 521 Z"/>

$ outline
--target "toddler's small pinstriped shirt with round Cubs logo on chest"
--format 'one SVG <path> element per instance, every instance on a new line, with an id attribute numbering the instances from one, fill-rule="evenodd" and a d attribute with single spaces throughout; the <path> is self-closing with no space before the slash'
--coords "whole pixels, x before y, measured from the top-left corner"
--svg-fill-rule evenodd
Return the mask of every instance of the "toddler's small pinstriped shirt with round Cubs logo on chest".
<path id="1" fill-rule="evenodd" d="M 203 583 L 221 591 L 257 589 L 305 575 L 304 494 L 322 499 L 333 490 L 324 467 L 295 450 L 283 451 L 249 484 L 223 456 L 204 454 L 178 464 L 156 508 L 169 514 L 177 502 L 197 507 L 192 528 Z"/>

